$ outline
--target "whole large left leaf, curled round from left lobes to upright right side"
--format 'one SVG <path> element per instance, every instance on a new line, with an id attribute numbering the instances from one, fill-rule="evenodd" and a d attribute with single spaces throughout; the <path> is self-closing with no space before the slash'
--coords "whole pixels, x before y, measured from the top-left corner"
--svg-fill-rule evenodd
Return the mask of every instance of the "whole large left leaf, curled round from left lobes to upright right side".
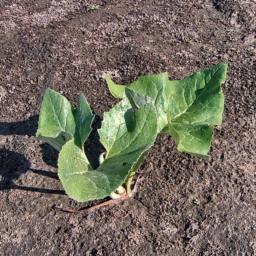
<path id="1" fill-rule="evenodd" d="M 124 98 L 104 113 L 98 132 L 107 154 L 93 170 L 84 153 L 93 118 L 83 94 L 74 109 L 59 93 L 51 89 L 45 92 L 36 135 L 60 151 L 59 178 L 68 195 L 78 201 L 110 195 L 117 198 L 116 188 L 157 136 L 156 108 L 152 102 L 133 113 L 129 100 Z"/>

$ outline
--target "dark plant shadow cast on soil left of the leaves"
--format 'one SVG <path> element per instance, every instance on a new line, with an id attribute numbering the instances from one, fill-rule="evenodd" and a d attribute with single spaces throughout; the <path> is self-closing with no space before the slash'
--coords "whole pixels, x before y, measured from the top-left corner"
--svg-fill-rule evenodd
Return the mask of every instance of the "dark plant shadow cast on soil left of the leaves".
<path id="1" fill-rule="evenodd" d="M 36 136 L 38 116 L 31 116 L 28 120 L 18 122 L 0 122 L 0 135 L 28 135 Z M 57 167 L 58 151 L 50 145 L 43 143 L 40 145 L 42 149 L 43 160 L 46 164 Z M 51 153 L 51 154 L 50 154 Z M 50 157 L 51 156 L 51 157 Z M 0 190 L 4 189 L 20 189 L 26 191 L 60 194 L 66 195 L 64 190 L 55 190 L 47 188 L 33 188 L 27 186 L 19 186 L 14 183 L 18 180 L 21 174 L 34 172 L 52 179 L 59 179 L 57 173 L 44 170 L 37 170 L 30 168 L 29 161 L 24 155 L 12 152 L 7 149 L 0 148 Z"/>

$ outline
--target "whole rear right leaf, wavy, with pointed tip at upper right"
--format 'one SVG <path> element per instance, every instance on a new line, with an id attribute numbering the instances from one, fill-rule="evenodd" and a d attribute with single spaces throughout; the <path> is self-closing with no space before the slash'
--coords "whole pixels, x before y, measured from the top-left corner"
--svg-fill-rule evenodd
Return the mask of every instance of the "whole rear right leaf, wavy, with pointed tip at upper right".
<path id="1" fill-rule="evenodd" d="M 115 97 L 127 94 L 133 108 L 151 98 L 157 110 L 158 135 L 170 133 L 181 152 L 208 158 L 213 124 L 222 120 L 220 84 L 225 82 L 226 70 L 227 62 L 223 62 L 182 80 L 170 81 L 167 73 L 162 73 L 140 77 L 126 86 L 106 79 L 110 92 Z"/>

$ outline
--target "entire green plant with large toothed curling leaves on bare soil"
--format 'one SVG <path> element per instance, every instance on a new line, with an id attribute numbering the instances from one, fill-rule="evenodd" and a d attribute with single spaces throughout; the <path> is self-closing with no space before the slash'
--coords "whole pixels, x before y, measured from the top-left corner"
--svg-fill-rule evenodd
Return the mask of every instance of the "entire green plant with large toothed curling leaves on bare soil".
<path id="1" fill-rule="evenodd" d="M 98 129 L 107 153 L 96 170 L 84 152 L 94 118 L 84 95 L 74 109 L 64 96 L 47 89 L 36 136 L 60 151 L 58 172 L 67 194 L 77 201 L 118 198 L 115 192 L 122 185 L 129 194 L 134 173 L 161 134 L 171 134 L 179 151 L 209 158 L 213 125 L 222 121 L 220 84 L 226 70 L 223 62 L 182 80 L 170 81 L 162 73 L 128 85 L 114 84 L 106 76 L 110 92 L 122 100 L 104 113 Z"/>

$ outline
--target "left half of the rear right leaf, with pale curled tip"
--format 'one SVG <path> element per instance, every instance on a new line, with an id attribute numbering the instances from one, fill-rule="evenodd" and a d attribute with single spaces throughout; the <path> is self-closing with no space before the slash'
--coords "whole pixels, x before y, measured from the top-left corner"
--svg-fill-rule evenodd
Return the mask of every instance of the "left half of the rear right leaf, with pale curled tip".
<path id="1" fill-rule="evenodd" d="M 164 128 L 164 126 L 166 126 L 167 124 L 166 109 L 168 108 L 166 84 L 169 81 L 167 73 L 162 73 L 159 75 L 142 76 L 137 81 L 133 82 L 132 84 L 128 84 L 126 86 L 114 84 L 109 77 L 108 78 L 106 77 L 106 79 L 107 79 L 110 92 L 116 98 L 122 98 L 125 95 L 124 93 L 125 88 L 129 88 L 130 90 L 132 90 L 133 92 L 136 92 L 140 96 L 146 95 L 148 96 L 148 98 L 151 98 L 154 102 L 154 105 L 156 106 L 158 132 L 160 132 Z M 131 91 L 129 92 L 131 93 Z M 129 98 L 132 99 L 131 103 L 132 105 L 134 105 L 135 103 L 134 100 L 136 99 L 136 97 L 131 97 L 129 95 Z M 140 102 L 140 106 L 141 106 L 141 102 Z M 136 108 L 136 104 L 133 107 Z"/>

